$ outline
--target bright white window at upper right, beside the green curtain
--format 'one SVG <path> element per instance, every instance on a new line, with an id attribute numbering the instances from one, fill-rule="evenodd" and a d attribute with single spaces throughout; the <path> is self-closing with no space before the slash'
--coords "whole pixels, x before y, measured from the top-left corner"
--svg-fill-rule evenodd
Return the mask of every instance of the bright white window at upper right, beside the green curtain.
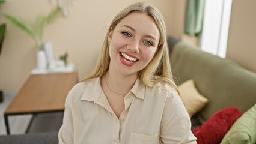
<path id="1" fill-rule="evenodd" d="M 225 58 L 232 0 L 206 0 L 201 50 Z"/>

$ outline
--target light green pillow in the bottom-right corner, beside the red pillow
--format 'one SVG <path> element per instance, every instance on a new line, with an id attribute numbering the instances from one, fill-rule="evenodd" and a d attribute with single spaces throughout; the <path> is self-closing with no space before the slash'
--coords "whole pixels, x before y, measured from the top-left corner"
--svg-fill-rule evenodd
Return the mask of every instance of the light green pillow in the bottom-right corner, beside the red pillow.
<path id="1" fill-rule="evenodd" d="M 221 141 L 224 143 L 256 143 L 256 104 L 234 122 Z"/>

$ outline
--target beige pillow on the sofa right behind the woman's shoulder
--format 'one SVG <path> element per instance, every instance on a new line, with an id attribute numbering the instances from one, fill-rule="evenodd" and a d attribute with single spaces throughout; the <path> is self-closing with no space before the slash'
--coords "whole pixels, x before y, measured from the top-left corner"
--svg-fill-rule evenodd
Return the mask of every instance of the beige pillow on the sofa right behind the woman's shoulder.
<path id="1" fill-rule="evenodd" d="M 195 88 L 194 80 L 190 79 L 178 86 L 180 98 L 190 116 L 195 115 L 208 103 L 208 99 L 199 94 Z"/>

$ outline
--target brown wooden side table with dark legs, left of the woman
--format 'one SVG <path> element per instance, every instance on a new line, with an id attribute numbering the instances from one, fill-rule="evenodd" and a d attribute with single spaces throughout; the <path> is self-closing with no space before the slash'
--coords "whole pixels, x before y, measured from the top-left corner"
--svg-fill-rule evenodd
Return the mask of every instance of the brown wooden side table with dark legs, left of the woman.
<path id="1" fill-rule="evenodd" d="M 4 112 L 7 134 L 8 116 L 64 111 L 68 92 L 78 82 L 76 73 L 34 74 L 29 76 Z"/>

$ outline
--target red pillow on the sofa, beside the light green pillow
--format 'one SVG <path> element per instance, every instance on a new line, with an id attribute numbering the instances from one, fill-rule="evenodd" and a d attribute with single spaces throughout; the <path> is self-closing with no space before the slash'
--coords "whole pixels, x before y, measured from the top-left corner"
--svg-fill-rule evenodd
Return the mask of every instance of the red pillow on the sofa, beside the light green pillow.
<path id="1" fill-rule="evenodd" d="M 206 123 L 192 130 L 192 133 L 197 137 L 198 144 L 221 143 L 222 138 L 240 116 L 241 113 L 236 108 L 219 110 Z"/>

